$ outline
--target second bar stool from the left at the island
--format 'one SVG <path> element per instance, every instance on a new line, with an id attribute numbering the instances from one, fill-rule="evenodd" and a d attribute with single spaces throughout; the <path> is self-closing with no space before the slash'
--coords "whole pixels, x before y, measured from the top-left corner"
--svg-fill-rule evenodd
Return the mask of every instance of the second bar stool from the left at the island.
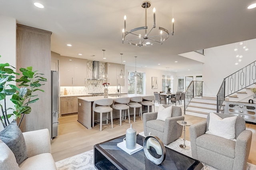
<path id="1" fill-rule="evenodd" d="M 125 110 L 125 115 L 126 115 L 126 110 L 128 110 L 128 118 L 129 118 L 129 123 L 130 123 L 130 111 L 129 111 L 129 106 L 128 104 L 130 102 L 130 98 L 116 98 L 114 99 L 114 102 L 112 104 L 112 108 L 119 110 L 120 113 L 120 126 L 122 125 L 122 111 Z"/>

